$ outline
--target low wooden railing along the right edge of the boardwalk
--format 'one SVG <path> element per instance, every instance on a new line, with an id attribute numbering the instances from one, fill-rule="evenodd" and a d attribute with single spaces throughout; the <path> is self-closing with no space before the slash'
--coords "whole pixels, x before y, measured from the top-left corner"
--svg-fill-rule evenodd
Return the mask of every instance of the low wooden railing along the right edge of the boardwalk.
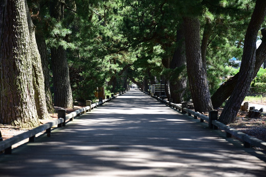
<path id="1" fill-rule="evenodd" d="M 141 90 L 141 91 L 143 91 L 143 90 Z M 147 93 L 147 92 L 144 92 L 144 93 L 149 95 L 149 93 Z M 250 148 L 251 145 L 253 145 L 253 146 L 256 146 L 258 148 L 266 150 L 266 142 L 259 140 L 257 138 L 251 137 L 251 136 L 249 136 L 243 132 L 240 132 L 240 131 L 232 128 L 232 127 L 229 127 L 229 126 L 219 122 L 218 121 L 218 111 L 210 111 L 209 117 L 208 117 L 208 116 L 202 115 L 198 112 L 194 112 L 194 111 L 188 109 L 186 102 L 183 102 L 182 105 L 179 106 L 177 104 L 171 103 L 171 101 L 169 102 L 167 100 L 164 100 L 164 98 L 162 99 L 162 98 L 159 98 L 157 96 L 154 96 L 153 94 L 151 94 L 151 97 L 161 101 L 162 103 L 166 103 L 169 107 L 173 107 L 175 109 L 178 109 L 178 111 L 180 111 L 183 114 L 188 113 L 188 116 L 193 115 L 194 119 L 197 119 L 199 117 L 200 122 L 204 122 L 204 120 L 205 120 L 206 122 L 208 122 L 209 128 L 211 128 L 211 129 L 217 130 L 219 128 L 219 129 L 224 130 L 226 133 L 225 134 L 226 138 L 231 138 L 232 135 L 236 138 L 239 138 L 241 141 L 243 141 L 243 145 L 245 148 Z"/>

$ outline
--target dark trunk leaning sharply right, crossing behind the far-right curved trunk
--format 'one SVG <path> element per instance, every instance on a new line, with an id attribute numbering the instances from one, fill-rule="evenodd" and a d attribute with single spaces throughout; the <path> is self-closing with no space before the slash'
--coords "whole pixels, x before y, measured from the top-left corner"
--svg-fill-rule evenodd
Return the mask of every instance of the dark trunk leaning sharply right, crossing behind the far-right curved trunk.
<path id="1" fill-rule="evenodd" d="M 255 68 L 252 80 L 256 77 L 258 71 L 260 70 L 260 66 L 263 64 L 266 58 L 266 29 L 261 29 L 262 34 L 262 42 L 256 50 L 256 61 L 255 61 Z M 219 108 L 223 102 L 232 94 L 236 82 L 238 81 L 238 75 L 234 75 L 231 79 L 228 79 L 225 83 L 223 83 L 211 96 L 211 102 L 213 103 L 214 108 Z"/>

